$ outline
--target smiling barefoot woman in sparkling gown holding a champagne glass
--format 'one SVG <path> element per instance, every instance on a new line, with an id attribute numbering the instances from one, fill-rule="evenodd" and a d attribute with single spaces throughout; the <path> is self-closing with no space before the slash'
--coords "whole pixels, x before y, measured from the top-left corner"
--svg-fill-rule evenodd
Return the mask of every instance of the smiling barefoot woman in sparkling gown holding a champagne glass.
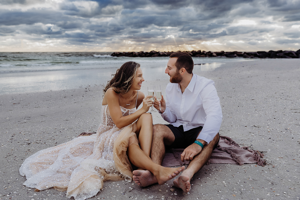
<path id="1" fill-rule="evenodd" d="M 152 101 L 151 96 L 138 92 L 143 81 L 140 64 L 123 64 L 104 89 L 102 122 L 97 134 L 74 138 L 27 158 L 19 170 L 22 176 L 26 175 L 24 185 L 37 190 L 67 190 L 67 197 L 79 200 L 95 196 L 103 188 L 103 181 L 131 182 L 129 160 L 152 172 L 159 184 L 178 175 L 184 167 L 162 167 L 149 157 L 152 116 L 146 112 Z M 137 110 L 142 102 L 142 108 Z"/>

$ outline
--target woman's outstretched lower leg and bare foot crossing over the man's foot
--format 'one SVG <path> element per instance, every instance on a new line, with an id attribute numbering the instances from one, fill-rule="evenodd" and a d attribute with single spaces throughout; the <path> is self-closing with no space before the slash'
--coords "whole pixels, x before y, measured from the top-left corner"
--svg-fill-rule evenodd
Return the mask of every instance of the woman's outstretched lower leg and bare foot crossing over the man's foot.
<path id="1" fill-rule="evenodd" d="M 160 185 L 176 177 L 184 170 L 184 166 L 169 168 L 153 163 L 151 158 L 142 151 L 140 146 L 137 144 L 132 144 L 128 147 L 127 155 L 132 164 L 141 169 L 149 170 L 155 176 L 156 181 Z"/>

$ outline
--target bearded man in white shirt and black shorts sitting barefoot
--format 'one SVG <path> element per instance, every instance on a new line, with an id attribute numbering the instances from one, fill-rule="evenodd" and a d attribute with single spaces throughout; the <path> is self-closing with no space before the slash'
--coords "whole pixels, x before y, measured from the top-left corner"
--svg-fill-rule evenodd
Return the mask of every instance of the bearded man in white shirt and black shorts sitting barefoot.
<path id="1" fill-rule="evenodd" d="M 193 59 L 186 52 L 170 55 L 165 73 L 170 76 L 166 100 L 162 97 L 161 116 L 170 124 L 153 126 L 151 159 L 161 165 L 167 148 L 184 148 L 181 160 L 190 161 L 174 180 L 174 186 L 190 191 L 190 180 L 209 160 L 219 142 L 222 122 L 220 99 L 212 80 L 193 74 Z M 159 102 L 154 107 L 159 110 Z M 133 172 L 140 186 L 156 183 L 149 171 Z"/>

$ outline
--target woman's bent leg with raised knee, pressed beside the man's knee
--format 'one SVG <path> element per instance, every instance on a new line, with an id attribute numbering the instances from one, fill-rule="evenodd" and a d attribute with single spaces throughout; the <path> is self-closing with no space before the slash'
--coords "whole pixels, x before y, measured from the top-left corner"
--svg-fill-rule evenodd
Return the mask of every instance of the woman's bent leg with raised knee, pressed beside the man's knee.
<path id="1" fill-rule="evenodd" d="M 144 113 L 137 120 L 137 138 L 140 142 L 141 149 L 150 156 L 151 144 L 152 144 L 152 133 L 153 133 L 153 121 L 150 113 Z"/>

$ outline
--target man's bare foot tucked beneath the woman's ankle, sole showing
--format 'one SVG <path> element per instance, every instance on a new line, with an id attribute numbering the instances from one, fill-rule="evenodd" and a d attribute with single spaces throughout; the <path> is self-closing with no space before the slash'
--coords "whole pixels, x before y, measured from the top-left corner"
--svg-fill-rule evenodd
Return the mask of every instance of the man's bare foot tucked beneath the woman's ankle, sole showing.
<path id="1" fill-rule="evenodd" d="M 155 176 L 148 170 L 134 170 L 133 180 L 136 184 L 142 187 L 157 183 Z"/>

